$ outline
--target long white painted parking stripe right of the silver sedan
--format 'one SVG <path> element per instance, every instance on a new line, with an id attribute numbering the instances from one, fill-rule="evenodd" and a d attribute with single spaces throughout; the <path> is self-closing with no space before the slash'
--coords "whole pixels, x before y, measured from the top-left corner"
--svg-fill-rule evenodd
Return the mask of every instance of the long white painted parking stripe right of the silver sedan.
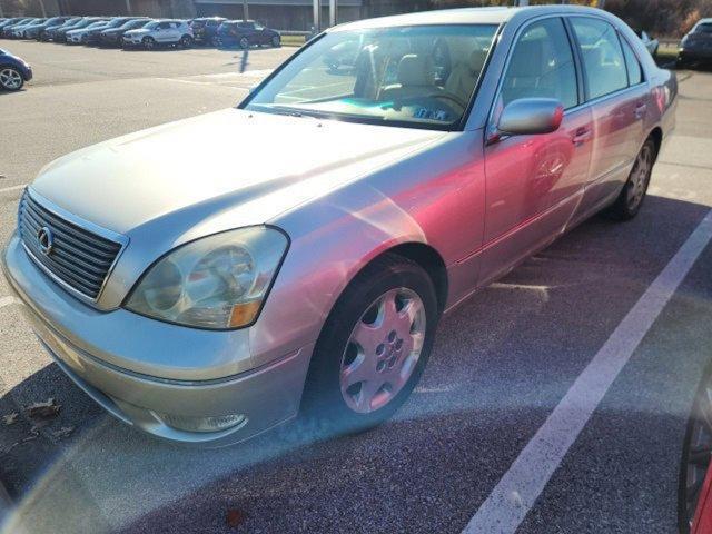
<path id="1" fill-rule="evenodd" d="M 511 534 L 516 531 L 606 390 L 710 239 L 712 211 L 702 219 L 613 330 L 611 337 L 469 520 L 464 534 Z"/>

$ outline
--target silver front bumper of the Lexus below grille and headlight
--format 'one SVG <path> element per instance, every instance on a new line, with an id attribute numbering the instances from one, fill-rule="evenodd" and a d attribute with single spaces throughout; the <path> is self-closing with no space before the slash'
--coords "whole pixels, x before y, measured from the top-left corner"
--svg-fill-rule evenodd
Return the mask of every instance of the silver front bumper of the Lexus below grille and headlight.
<path id="1" fill-rule="evenodd" d="M 185 358 L 175 354 L 175 340 L 164 338 L 157 345 L 152 337 L 165 336 L 168 325 L 126 310 L 100 313 L 79 303 L 34 266 L 17 235 L 10 239 L 0 265 L 12 291 L 22 303 L 23 314 L 60 368 L 103 408 L 129 425 L 171 442 L 219 446 L 253 437 L 298 412 L 313 344 L 265 366 L 221 378 L 157 377 L 118 366 L 108 356 L 126 358 L 126 354 L 119 353 L 130 347 L 140 352 L 144 347 L 147 355 L 156 358 L 157 347 L 165 346 L 166 354 L 160 358 L 185 364 Z M 138 332 L 127 320 L 140 320 L 144 328 Z M 108 322 L 115 323 L 112 333 L 106 328 Z M 174 330 L 184 336 L 179 344 L 188 344 L 184 352 L 190 353 L 197 365 L 216 358 L 212 354 L 216 345 L 206 347 L 198 340 L 201 336 L 205 339 L 205 335 L 215 334 L 216 339 L 224 339 L 222 350 L 228 357 L 250 357 L 249 354 L 235 354 L 240 347 L 243 352 L 246 349 L 244 345 L 238 345 L 237 349 L 230 345 L 234 339 L 225 336 L 226 333 L 174 328 L 179 328 Z M 190 334 L 197 339 L 192 344 L 185 338 Z M 127 344 L 126 339 L 130 337 L 134 337 L 132 343 Z M 97 338 L 102 339 L 100 348 L 96 346 Z M 140 358 L 141 355 L 130 357 Z M 161 374 L 185 374 L 186 369 L 165 370 Z M 241 415 L 245 419 L 237 426 L 216 432 L 191 432 L 167 423 L 176 418 L 227 415 Z"/>

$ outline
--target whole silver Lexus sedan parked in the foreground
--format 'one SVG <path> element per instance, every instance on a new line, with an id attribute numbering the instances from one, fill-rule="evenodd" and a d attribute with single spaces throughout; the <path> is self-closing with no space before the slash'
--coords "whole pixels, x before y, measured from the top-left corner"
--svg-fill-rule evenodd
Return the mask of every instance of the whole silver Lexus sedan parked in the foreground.
<path id="1" fill-rule="evenodd" d="M 635 217 L 676 95 L 600 10 L 347 23 L 236 108 L 49 164 L 0 264 L 59 367 L 136 428 L 363 428 L 444 314 L 594 214 Z"/>

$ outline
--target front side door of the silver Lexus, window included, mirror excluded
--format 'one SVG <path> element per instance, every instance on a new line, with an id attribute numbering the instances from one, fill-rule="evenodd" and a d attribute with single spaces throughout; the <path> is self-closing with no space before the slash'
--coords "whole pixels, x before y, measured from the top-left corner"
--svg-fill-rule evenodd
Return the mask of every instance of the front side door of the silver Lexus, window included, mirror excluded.
<path id="1" fill-rule="evenodd" d="M 547 18 L 520 33 L 495 102 L 485 146 L 484 283 L 558 236 L 583 195 L 591 162 L 593 117 L 578 107 L 581 85 L 563 20 Z M 554 98 L 564 109 L 551 134 L 498 137 L 510 102 Z"/>

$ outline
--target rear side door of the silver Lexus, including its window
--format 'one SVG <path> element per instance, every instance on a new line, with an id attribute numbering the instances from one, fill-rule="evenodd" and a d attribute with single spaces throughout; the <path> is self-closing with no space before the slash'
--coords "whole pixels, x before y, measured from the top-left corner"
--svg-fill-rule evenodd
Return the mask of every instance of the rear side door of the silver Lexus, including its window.
<path id="1" fill-rule="evenodd" d="M 591 177 L 582 202 L 585 216 L 611 201 L 627 179 L 643 144 L 650 91 L 635 53 L 613 26 L 593 17 L 568 20 L 594 120 Z"/>

